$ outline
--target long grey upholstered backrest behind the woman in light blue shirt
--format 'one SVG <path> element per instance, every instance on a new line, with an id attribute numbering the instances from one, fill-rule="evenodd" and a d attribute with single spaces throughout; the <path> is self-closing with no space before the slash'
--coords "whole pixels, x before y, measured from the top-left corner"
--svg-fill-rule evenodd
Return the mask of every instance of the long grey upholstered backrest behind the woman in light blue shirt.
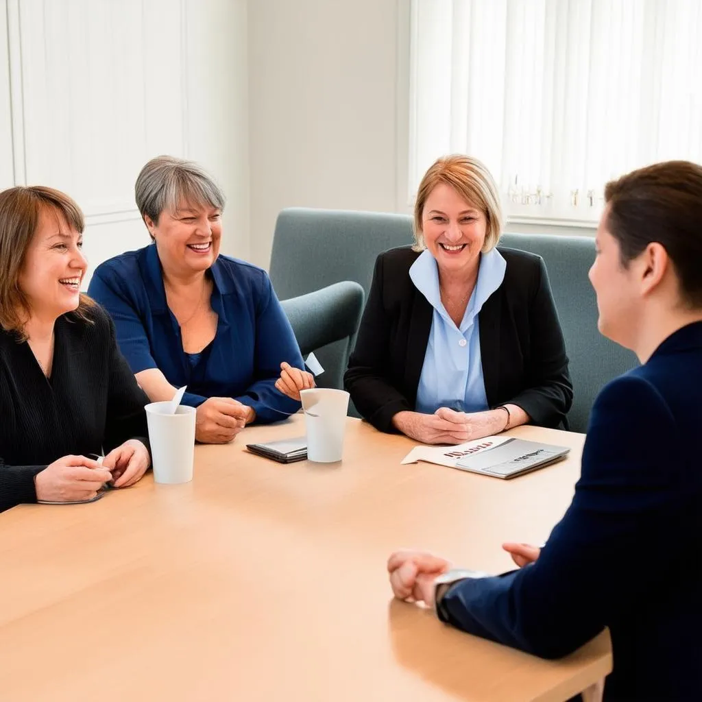
<path id="1" fill-rule="evenodd" d="M 288 209 L 278 216 L 270 276 L 281 297 L 353 280 L 367 299 L 378 254 L 412 241 L 408 215 Z M 637 364 L 633 353 L 597 331 L 597 304 L 588 280 L 595 242 L 557 234 L 503 234 L 500 245 L 531 251 L 545 260 L 573 377 L 568 420 L 571 430 L 584 432 L 597 392 Z"/>

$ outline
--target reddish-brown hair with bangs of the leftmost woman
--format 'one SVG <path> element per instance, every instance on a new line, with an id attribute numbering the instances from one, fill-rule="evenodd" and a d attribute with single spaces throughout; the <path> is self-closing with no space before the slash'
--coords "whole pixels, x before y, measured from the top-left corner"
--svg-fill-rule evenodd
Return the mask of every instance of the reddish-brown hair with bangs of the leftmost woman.
<path id="1" fill-rule="evenodd" d="M 51 187 L 11 187 L 0 192 L 0 327 L 14 331 L 24 340 L 24 326 L 31 310 L 20 288 L 20 272 L 27 249 L 37 232 L 39 217 L 46 208 L 52 208 L 65 217 L 77 232 L 83 233 L 85 221 L 81 208 L 66 194 Z M 86 310 L 95 303 L 80 296 L 77 310 L 72 314 L 86 322 Z"/>

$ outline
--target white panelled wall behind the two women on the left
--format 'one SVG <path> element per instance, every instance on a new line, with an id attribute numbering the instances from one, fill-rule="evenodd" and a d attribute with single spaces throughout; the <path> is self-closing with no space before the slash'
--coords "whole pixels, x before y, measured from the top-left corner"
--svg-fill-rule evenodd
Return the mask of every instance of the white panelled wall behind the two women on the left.
<path id="1" fill-rule="evenodd" d="M 74 197 L 91 270 L 149 241 L 133 187 L 159 154 L 218 178 L 232 223 L 223 251 L 248 256 L 246 6 L 0 0 L 0 188 Z"/>

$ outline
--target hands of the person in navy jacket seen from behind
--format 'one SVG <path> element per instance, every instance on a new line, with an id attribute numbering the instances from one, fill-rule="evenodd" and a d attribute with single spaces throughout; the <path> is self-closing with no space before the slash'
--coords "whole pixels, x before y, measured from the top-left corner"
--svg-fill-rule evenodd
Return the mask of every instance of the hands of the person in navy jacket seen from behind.
<path id="1" fill-rule="evenodd" d="M 512 560 L 523 568 L 538 559 L 540 548 L 527 543 L 503 543 Z M 451 568 L 446 559 L 423 551 L 395 551 L 388 559 L 390 587 L 398 600 L 434 607 L 434 581 Z"/>

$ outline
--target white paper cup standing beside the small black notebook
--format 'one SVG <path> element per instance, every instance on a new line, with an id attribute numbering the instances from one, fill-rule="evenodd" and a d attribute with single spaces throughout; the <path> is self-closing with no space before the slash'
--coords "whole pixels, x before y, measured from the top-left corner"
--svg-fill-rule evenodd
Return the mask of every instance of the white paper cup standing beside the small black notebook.
<path id="1" fill-rule="evenodd" d="M 344 432 L 349 394 L 333 388 L 301 390 L 305 411 L 307 460 L 317 463 L 340 461 L 344 451 Z"/>

